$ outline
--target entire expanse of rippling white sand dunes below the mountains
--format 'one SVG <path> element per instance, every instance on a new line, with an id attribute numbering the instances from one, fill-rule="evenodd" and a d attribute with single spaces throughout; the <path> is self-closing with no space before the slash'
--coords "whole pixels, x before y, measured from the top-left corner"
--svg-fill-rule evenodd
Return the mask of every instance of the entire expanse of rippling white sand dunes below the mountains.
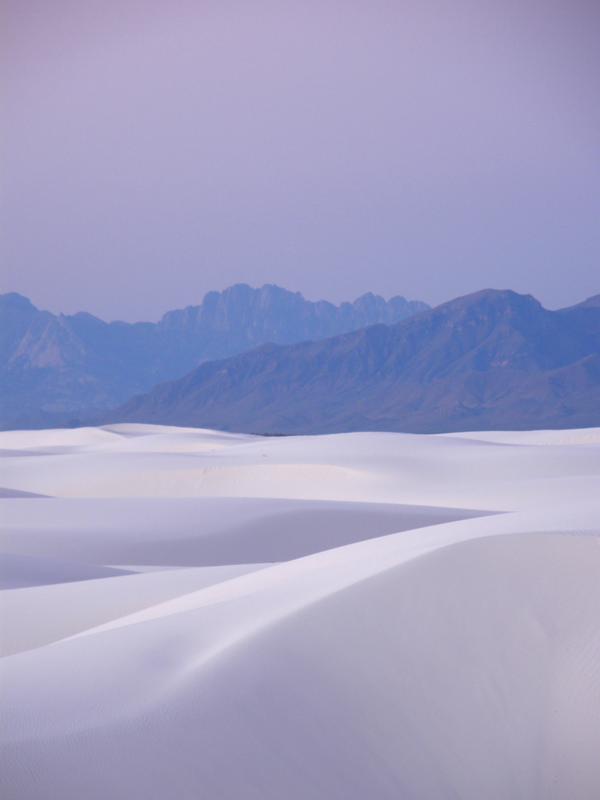
<path id="1" fill-rule="evenodd" d="M 600 431 L 62 433 L 1 547 L 130 574 L 0 592 L 3 798 L 600 797 Z"/>

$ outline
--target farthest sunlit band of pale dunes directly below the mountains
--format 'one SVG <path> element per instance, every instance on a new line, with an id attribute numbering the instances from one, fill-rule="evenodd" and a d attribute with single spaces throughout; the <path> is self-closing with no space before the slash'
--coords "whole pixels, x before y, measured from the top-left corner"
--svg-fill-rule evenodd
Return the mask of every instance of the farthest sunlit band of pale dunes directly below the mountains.
<path id="1" fill-rule="evenodd" d="M 0 433 L 0 447 L 33 451 L 2 460 L 0 485 L 57 497 L 233 496 L 513 511 L 552 495 L 585 501 L 597 479 L 596 446 L 540 447 L 539 438 L 528 444 L 527 432 L 512 434 L 508 446 L 471 434 L 257 438 L 148 426 L 149 450 L 140 426 L 128 438 L 114 427 L 98 436 L 95 429 L 67 431 L 64 448 L 51 431 L 52 453 L 36 450 L 36 435 L 48 432 Z"/>

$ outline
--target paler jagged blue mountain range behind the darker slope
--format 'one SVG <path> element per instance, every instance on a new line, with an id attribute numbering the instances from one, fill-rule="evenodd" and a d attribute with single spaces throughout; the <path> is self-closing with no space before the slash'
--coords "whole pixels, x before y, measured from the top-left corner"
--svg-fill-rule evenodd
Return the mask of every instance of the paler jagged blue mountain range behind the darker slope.
<path id="1" fill-rule="evenodd" d="M 427 309 L 403 297 L 311 302 L 274 285 L 209 292 L 157 323 L 52 314 L 0 296 L 0 428 L 75 424 L 179 378 L 199 364 L 265 342 L 318 340 Z"/>

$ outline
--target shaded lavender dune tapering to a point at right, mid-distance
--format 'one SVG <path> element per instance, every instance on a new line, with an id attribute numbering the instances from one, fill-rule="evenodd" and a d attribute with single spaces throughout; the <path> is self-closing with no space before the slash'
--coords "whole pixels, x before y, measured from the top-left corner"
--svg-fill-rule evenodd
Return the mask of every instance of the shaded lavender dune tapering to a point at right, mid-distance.
<path id="1" fill-rule="evenodd" d="M 482 511 L 257 498 L 0 501 L 2 546 L 89 564 L 217 566 L 287 561 Z"/>

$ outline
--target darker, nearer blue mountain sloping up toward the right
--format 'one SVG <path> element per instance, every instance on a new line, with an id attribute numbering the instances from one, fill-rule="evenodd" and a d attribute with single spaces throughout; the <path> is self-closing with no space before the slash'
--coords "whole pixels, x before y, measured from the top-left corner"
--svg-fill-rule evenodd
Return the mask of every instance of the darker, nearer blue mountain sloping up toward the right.
<path id="1" fill-rule="evenodd" d="M 256 433 L 600 425 L 600 296 L 486 290 L 393 325 L 206 363 L 111 419 Z"/>

